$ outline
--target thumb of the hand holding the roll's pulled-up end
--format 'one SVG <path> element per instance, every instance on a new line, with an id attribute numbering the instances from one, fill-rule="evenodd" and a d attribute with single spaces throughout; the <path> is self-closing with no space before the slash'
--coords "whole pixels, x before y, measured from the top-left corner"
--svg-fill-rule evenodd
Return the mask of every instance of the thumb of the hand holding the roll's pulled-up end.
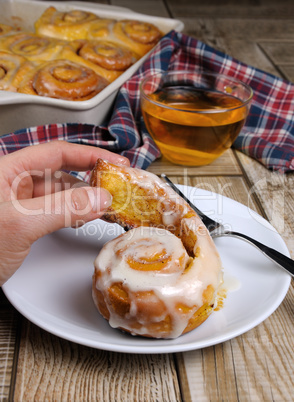
<path id="1" fill-rule="evenodd" d="M 111 205 L 111 194 L 102 188 L 76 187 L 43 197 L 14 200 L 19 223 L 27 240 L 70 226 L 81 226 L 100 218 Z"/>

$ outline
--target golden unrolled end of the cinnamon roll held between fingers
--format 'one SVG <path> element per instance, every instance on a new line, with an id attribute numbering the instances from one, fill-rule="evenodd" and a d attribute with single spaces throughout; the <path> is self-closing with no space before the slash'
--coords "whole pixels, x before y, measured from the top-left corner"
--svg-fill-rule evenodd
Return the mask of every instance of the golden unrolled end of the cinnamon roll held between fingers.
<path id="1" fill-rule="evenodd" d="M 164 187 L 157 183 L 146 186 L 132 182 L 124 166 L 116 166 L 98 159 L 92 171 L 90 184 L 107 189 L 113 197 L 112 205 L 104 213 L 108 222 L 118 223 L 129 230 L 138 226 L 162 227 L 180 236 L 190 255 L 196 235 L 182 225 L 183 218 L 196 216 L 187 204 L 171 199 Z M 176 211 L 179 218 L 171 224 L 164 221 L 164 214 Z"/>

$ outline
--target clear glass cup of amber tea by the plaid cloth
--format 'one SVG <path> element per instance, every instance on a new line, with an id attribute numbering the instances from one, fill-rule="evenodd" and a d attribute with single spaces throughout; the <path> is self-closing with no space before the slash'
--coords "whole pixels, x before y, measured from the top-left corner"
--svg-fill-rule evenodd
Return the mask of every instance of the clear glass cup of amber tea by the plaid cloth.
<path id="1" fill-rule="evenodd" d="M 207 165 L 231 147 L 248 115 L 252 89 L 210 72 L 151 74 L 140 84 L 143 118 L 163 156 Z"/>

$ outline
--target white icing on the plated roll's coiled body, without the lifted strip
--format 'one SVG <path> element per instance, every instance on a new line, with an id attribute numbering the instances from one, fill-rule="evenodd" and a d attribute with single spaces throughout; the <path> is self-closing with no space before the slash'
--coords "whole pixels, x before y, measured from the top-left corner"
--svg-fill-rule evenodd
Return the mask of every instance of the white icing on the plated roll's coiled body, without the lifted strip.
<path id="1" fill-rule="evenodd" d="M 198 242 L 197 242 L 198 243 Z M 153 291 L 165 306 L 163 315 L 154 317 L 161 321 L 166 314 L 172 320 L 170 338 L 182 334 L 193 313 L 203 304 L 203 291 L 212 285 L 219 285 L 220 261 L 217 253 L 211 253 L 207 239 L 200 239 L 202 251 L 194 258 L 191 268 L 185 271 L 190 258 L 179 238 L 165 229 L 139 227 L 107 243 L 95 260 L 95 267 L 102 275 L 96 282 L 98 290 L 108 289 L 114 283 L 123 283 L 131 295 L 136 292 Z M 128 257 L 139 261 L 154 256 L 165 249 L 165 256 L 172 259 L 162 270 L 140 271 L 132 269 Z M 209 253 L 207 253 L 209 251 Z M 137 320 L 137 299 L 130 297 L 130 312 L 122 319 L 110 308 L 109 323 L 112 327 L 122 327 L 133 332 L 132 321 Z M 176 309 L 177 304 L 191 307 L 189 314 Z M 137 334 L 145 334 L 148 323 L 141 321 Z M 148 332 L 148 331 L 147 331 Z M 153 334 L 156 336 L 156 334 Z"/>

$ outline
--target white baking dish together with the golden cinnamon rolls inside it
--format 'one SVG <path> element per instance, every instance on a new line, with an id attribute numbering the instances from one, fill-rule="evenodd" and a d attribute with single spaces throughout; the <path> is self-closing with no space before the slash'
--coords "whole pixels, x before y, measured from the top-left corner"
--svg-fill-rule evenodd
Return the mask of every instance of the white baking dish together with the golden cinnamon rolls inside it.
<path id="1" fill-rule="evenodd" d="M 178 20 L 84 2 L 4 0 L 0 135 L 50 123 L 101 124 L 120 86 Z"/>

